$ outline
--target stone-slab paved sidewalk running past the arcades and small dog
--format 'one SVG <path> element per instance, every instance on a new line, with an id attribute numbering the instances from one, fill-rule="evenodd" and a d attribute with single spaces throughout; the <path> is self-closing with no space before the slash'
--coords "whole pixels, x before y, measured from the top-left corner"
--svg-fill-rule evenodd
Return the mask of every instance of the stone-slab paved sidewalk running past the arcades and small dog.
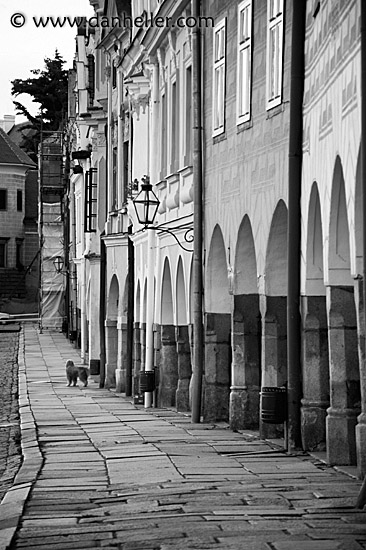
<path id="1" fill-rule="evenodd" d="M 359 481 L 254 432 L 145 410 L 93 382 L 66 387 L 77 351 L 24 330 L 25 459 L 0 505 L 0 548 L 366 548 Z"/>

